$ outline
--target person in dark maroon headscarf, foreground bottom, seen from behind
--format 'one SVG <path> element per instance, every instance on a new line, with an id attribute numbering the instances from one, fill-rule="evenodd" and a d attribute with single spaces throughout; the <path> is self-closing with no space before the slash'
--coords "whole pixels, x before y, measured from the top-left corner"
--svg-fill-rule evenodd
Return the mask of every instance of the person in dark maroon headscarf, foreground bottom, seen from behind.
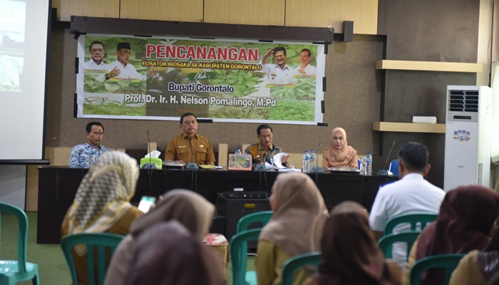
<path id="1" fill-rule="evenodd" d="M 130 248 L 125 285 L 222 285 L 222 264 L 178 221 L 144 229 Z"/>

